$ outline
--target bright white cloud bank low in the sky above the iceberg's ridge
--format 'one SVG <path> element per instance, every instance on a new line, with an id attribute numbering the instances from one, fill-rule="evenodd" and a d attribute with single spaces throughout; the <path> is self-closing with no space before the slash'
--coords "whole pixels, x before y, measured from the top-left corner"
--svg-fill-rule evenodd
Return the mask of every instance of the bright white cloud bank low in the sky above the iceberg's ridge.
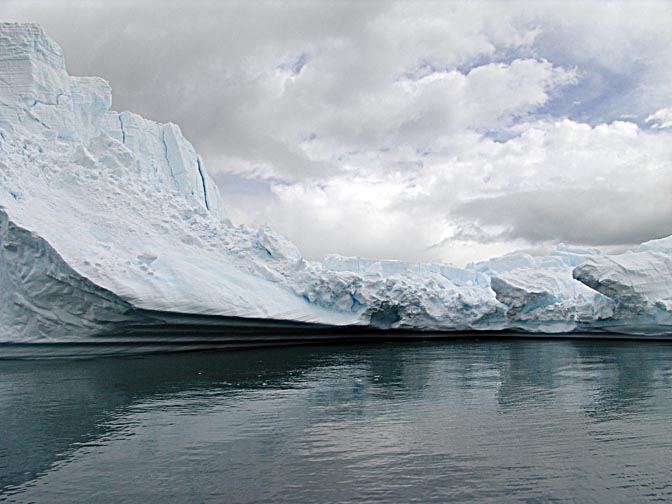
<path id="1" fill-rule="evenodd" d="M 422 165 L 395 167 L 409 154 L 402 147 L 355 156 L 357 170 L 328 181 L 274 185 L 256 222 L 294 236 L 313 257 L 455 263 L 558 242 L 623 246 L 672 234 L 670 134 L 564 120 L 529 124 L 506 142 L 450 140 L 434 144 Z"/>

